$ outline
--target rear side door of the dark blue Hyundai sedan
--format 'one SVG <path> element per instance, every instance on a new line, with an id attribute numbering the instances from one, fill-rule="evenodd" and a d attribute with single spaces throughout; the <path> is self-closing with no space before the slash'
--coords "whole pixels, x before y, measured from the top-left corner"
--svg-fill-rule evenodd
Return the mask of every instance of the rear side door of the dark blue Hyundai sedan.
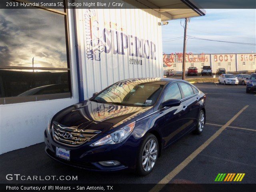
<path id="1" fill-rule="evenodd" d="M 193 90 L 193 87 L 186 82 L 179 82 L 179 87 L 183 96 L 182 100 L 186 101 L 186 118 L 188 119 L 186 130 L 189 131 L 195 127 L 198 120 L 200 110 L 199 92 L 195 93 L 196 89 Z"/>

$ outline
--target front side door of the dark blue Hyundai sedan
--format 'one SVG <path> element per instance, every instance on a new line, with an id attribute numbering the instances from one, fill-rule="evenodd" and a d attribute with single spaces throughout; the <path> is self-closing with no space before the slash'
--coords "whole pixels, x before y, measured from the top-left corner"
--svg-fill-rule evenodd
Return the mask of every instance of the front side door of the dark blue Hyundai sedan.
<path id="1" fill-rule="evenodd" d="M 178 83 L 174 83 L 166 88 L 162 103 L 169 99 L 182 100 L 182 93 Z M 182 101 L 179 106 L 162 108 L 161 110 L 161 113 L 164 114 L 164 122 L 161 123 L 160 130 L 164 139 L 164 146 L 167 146 L 180 138 L 182 131 L 186 129 L 188 123 L 186 114 L 188 110 L 186 109 L 186 101 Z"/>

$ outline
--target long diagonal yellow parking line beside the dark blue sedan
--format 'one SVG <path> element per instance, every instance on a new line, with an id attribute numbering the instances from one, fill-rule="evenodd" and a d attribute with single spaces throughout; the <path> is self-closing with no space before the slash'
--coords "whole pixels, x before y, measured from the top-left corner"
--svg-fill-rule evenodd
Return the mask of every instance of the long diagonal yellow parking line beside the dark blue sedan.
<path id="1" fill-rule="evenodd" d="M 168 173 L 158 184 L 167 184 L 172 180 L 182 169 L 184 169 L 202 150 L 204 150 L 214 139 L 216 139 L 222 131 L 229 126 L 246 108 L 248 105 L 244 106 L 237 114 L 235 114 L 225 125 L 223 125 L 216 133 L 214 133 L 204 144 L 197 148 L 190 156 L 188 156 L 183 162 L 181 162 L 174 170 Z M 150 192 L 160 191 L 165 185 L 156 184 Z"/>

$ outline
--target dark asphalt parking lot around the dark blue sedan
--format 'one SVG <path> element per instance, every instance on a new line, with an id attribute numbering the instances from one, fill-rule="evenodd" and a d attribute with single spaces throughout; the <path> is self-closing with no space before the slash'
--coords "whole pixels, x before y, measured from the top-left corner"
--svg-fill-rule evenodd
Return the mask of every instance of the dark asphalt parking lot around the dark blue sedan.
<path id="1" fill-rule="evenodd" d="M 206 125 L 200 135 L 188 134 L 163 151 L 148 176 L 133 173 L 89 172 L 55 162 L 44 152 L 44 143 L 0 156 L 1 183 L 6 174 L 74 175 L 69 183 L 216 183 L 218 173 L 245 173 L 240 183 L 256 182 L 256 94 L 245 86 L 195 84 L 206 93 Z M 42 133 L 43 136 L 43 133 Z M 37 183 L 68 183 L 37 181 Z M 34 183 L 25 181 L 25 183 Z M 231 182 L 234 183 L 234 182 Z"/>

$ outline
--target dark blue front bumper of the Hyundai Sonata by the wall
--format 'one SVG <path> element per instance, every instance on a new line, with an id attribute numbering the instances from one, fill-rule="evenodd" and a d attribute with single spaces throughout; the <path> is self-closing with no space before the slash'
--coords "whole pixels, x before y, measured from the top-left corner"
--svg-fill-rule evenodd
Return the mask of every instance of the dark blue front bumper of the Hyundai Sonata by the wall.
<path id="1" fill-rule="evenodd" d="M 63 164 L 83 168 L 93 171 L 119 171 L 124 169 L 135 169 L 136 160 L 140 140 L 134 140 L 132 135 L 124 143 L 114 145 L 103 145 L 98 147 L 91 147 L 89 144 L 82 144 L 80 146 L 66 146 L 54 142 L 52 136 L 47 131 L 44 132 L 44 142 L 46 144 L 46 154 Z M 132 142 L 132 144 L 129 144 Z M 70 160 L 64 160 L 57 157 L 56 147 L 70 150 Z M 125 151 L 125 152 L 124 152 Z M 102 166 L 98 162 L 117 160 L 121 164 L 118 166 Z"/>

